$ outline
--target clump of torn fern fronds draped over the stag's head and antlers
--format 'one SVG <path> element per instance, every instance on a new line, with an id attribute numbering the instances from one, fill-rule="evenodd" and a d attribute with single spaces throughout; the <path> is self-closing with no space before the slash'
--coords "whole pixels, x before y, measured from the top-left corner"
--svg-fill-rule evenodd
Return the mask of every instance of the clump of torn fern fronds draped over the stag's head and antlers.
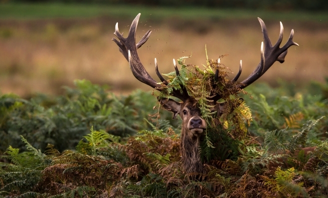
<path id="1" fill-rule="evenodd" d="M 217 151 L 222 151 L 222 149 L 214 146 L 213 142 L 220 142 L 221 146 L 227 146 L 224 145 L 224 141 L 222 141 L 221 138 L 218 138 L 219 135 L 222 135 L 221 133 L 229 133 L 229 135 L 236 140 L 245 138 L 247 126 L 249 126 L 251 121 L 251 112 L 245 102 L 240 99 L 239 93 L 246 92 L 240 89 L 239 82 L 227 78 L 230 72 L 227 67 L 220 63 L 220 58 L 222 58 L 222 56 L 220 56 L 217 61 L 207 59 L 207 65 L 204 66 L 203 70 L 199 68 L 199 66 L 185 64 L 184 60 L 187 57 L 188 56 L 178 59 L 177 62 L 181 65 L 178 72 L 175 70 L 164 74 L 168 77 L 167 84 L 161 89 L 158 99 L 168 98 L 172 95 L 173 90 L 178 90 L 182 94 L 184 90 L 181 87 L 184 87 L 187 94 L 197 101 L 201 115 L 207 122 L 205 137 L 202 139 L 203 144 L 208 147 L 205 148 L 202 146 L 202 150 L 207 150 L 205 152 L 207 153 L 205 158 L 207 160 L 211 159 L 211 157 L 209 157 L 210 155 L 225 159 L 224 154 L 217 155 Z M 173 61 L 175 62 L 175 60 Z M 176 67 L 175 63 L 174 66 Z M 221 125 L 214 124 L 213 118 L 217 117 L 215 117 L 216 111 L 211 110 L 211 108 L 214 107 L 214 105 L 211 105 L 211 103 L 214 104 L 211 94 L 220 95 L 221 101 L 225 103 L 224 111 L 219 117 L 220 122 L 223 124 L 224 131 Z M 215 147 L 216 149 L 211 149 Z M 212 154 L 209 154 L 210 152 L 212 152 Z M 204 158 L 204 155 L 202 155 L 202 157 Z"/>

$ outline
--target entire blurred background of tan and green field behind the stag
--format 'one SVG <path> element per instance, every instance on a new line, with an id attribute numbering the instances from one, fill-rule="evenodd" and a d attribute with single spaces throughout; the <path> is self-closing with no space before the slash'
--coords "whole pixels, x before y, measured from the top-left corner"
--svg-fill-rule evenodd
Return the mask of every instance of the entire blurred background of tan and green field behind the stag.
<path id="1" fill-rule="evenodd" d="M 245 78 L 260 60 L 264 20 L 271 42 L 284 25 L 284 38 L 294 29 L 285 62 L 274 63 L 258 80 L 305 86 L 328 76 L 328 1 L 326 0 L 0 0 L 0 91 L 29 97 L 35 92 L 60 94 L 74 79 L 108 84 L 126 94 L 151 90 L 137 81 L 111 40 L 115 23 L 126 35 L 141 13 L 136 39 L 150 29 L 138 49 L 146 70 L 159 81 L 173 70 L 172 58 L 191 55 L 186 63 L 217 59 Z M 231 74 L 230 78 L 234 74 Z"/>

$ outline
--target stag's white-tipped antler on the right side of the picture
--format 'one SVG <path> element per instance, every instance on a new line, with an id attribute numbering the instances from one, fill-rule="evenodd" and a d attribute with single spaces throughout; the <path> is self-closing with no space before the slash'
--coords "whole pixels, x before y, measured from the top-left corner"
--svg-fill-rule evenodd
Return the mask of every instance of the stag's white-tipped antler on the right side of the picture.
<path id="1" fill-rule="evenodd" d="M 270 38 L 267 34 L 266 26 L 262 19 L 257 17 L 259 23 L 261 24 L 262 33 L 263 33 L 263 42 L 261 43 L 261 61 L 258 63 L 255 70 L 244 80 L 241 81 L 241 84 L 239 85 L 240 88 L 245 88 L 249 84 L 253 83 L 255 80 L 257 80 L 260 76 L 262 76 L 265 71 L 272 66 L 272 64 L 275 61 L 279 61 L 280 63 L 284 62 L 284 57 L 287 54 L 287 49 L 291 45 L 297 45 L 298 44 L 294 41 L 292 41 L 292 38 L 294 36 L 294 30 L 291 29 L 289 38 L 287 42 L 280 48 L 280 44 L 283 37 L 283 26 L 280 22 L 280 33 L 279 38 L 277 42 L 272 46 L 272 43 L 270 41 Z M 264 45 L 264 46 L 263 46 Z M 264 47 L 264 48 L 263 48 Z M 233 80 L 237 80 L 239 75 L 241 73 L 241 61 L 240 61 L 240 67 L 238 74 L 233 78 Z"/>

